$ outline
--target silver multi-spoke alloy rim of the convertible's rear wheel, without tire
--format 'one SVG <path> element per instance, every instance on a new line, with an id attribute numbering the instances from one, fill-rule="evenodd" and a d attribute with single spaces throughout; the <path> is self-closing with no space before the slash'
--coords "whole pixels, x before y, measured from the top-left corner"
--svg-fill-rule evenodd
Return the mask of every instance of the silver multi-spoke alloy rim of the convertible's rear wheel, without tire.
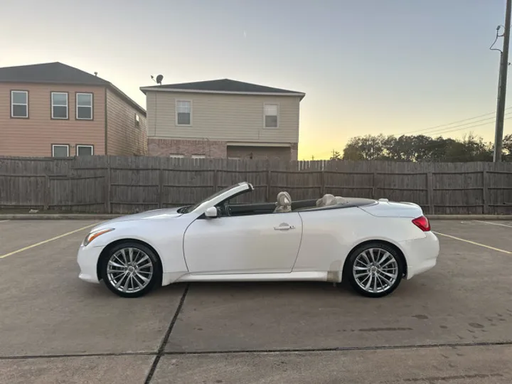
<path id="1" fill-rule="evenodd" d="M 387 250 L 369 248 L 356 257 L 352 274 L 364 291 L 373 294 L 386 292 L 398 279 L 398 261 Z"/>

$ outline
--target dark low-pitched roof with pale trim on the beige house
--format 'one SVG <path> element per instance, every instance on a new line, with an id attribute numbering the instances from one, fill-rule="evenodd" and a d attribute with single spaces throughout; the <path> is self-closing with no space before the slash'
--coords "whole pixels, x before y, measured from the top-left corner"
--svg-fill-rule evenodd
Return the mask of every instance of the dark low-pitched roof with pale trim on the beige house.
<path id="1" fill-rule="evenodd" d="M 252 84 L 230 79 L 219 79 L 209 81 L 181 82 L 178 84 L 153 85 L 150 87 L 141 87 L 142 92 L 147 91 L 167 91 L 167 92 L 206 92 L 206 93 L 230 93 L 240 95 L 280 95 L 280 96 L 299 96 L 306 95 L 303 92 L 293 90 L 283 90 L 281 88 L 266 87 L 265 85 Z"/>

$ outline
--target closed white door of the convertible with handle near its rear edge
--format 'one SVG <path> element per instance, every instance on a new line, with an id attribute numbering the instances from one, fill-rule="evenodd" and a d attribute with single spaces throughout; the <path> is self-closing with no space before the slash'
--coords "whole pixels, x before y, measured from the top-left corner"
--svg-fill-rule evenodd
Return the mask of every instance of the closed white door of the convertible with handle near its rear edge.
<path id="1" fill-rule="evenodd" d="M 298 213 L 198 218 L 183 252 L 191 273 L 291 272 L 302 238 Z"/>

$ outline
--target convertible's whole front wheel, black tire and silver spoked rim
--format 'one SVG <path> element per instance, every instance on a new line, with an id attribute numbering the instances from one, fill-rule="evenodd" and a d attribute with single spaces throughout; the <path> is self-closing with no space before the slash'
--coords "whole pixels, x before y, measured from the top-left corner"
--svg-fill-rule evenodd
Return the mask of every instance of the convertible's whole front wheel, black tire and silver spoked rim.
<path id="1" fill-rule="evenodd" d="M 161 276 L 159 258 L 145 245 L 122 242 L 110 249 L 101 266 L 102 279 L 121 297 L 141 297 Z"/>

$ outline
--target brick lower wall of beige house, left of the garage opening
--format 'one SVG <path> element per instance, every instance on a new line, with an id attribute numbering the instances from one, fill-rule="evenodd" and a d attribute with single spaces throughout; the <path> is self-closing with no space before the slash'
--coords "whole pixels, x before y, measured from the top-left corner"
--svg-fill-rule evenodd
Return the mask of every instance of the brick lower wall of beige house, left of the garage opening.
<path id="1" fill-rule="evenodd" d="M 152 138 L 148 139 L 148 153 L 149 156 L 171 156 L 179 154 L 190 157 L 198 154 L 214 158 L 225 158 L 227 155 L 226 142 Z"/>

